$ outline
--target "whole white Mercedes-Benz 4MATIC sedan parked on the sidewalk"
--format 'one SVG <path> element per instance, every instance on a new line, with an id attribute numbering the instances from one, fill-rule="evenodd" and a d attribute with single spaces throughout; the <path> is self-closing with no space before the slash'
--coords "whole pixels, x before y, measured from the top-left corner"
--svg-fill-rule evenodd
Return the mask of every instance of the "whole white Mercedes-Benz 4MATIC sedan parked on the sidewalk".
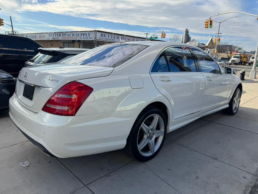
<path id="1" fill-rule="evenodd" d="M 166 133 L 224 110 L 236 114 L 241 80 L 198 47 L 171 42 L 103 45 L 23 68 L 10 117 L 41 151 L 75 157 L 124 148 L 139 161 Z"/>

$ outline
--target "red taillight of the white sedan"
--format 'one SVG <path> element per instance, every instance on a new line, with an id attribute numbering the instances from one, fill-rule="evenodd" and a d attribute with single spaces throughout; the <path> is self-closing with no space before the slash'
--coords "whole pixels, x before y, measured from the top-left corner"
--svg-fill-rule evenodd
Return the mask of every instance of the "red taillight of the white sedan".
<path id="1" fill-rule="evenodd" d="M 85 84 L 70 82 L 61 87 L 42 110 L 56 115 L 75 116 L 92 91 L 93 89 Z"/>

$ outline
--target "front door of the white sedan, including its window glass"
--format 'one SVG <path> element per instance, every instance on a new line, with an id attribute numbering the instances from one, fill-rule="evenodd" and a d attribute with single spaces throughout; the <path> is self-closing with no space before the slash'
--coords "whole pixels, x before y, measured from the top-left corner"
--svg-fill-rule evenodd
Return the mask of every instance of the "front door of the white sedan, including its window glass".
<path id="1" fill-rule="evenodd" d="M 195 48 L 191 50 L 206 81 L 202 110 L 225 103 L 230 86 L 228 76 L 221 73 L 219 65 L 207 53 Z"/>

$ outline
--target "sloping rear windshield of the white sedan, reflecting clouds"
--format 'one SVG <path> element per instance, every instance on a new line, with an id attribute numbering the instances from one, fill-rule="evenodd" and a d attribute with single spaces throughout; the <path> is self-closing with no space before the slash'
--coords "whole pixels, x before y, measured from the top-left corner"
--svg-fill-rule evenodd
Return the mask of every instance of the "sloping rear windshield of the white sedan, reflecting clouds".
<path id="1" fill-rule="evenodd" d="M 110 44 L 91 49 L 61 63 L 75 65 L 90 65 L 103 67 L 117 67 L 134 55 L 145 49 L 145 45 L 134 44 Z"/>

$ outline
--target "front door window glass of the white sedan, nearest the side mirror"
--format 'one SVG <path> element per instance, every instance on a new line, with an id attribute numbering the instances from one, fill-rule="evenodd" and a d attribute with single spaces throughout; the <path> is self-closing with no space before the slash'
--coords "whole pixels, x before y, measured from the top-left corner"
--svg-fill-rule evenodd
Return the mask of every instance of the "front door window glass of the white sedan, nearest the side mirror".
<path id="1" fill-rule="evenodd" d="M 209 55 L 207 55 L 204 51 L 200 51 L 194 48 L 192 48 L 192 51 L 197 57 L 202 72 L 220 74 L 220 68 L 218 64 Z"/>

